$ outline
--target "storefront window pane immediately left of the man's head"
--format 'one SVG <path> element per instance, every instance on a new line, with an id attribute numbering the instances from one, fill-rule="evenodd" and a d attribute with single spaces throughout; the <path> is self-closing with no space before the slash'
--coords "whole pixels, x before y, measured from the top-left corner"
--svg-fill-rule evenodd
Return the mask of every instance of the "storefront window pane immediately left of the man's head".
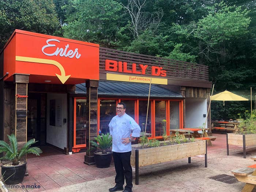
<path id="1" fill-rule="evenodd" d="M 116 116 L 116 100 L 101 99 L 100 100 L 100 116 L 99 128 L 101 133 L 109 133 L 109 122 Z"/>

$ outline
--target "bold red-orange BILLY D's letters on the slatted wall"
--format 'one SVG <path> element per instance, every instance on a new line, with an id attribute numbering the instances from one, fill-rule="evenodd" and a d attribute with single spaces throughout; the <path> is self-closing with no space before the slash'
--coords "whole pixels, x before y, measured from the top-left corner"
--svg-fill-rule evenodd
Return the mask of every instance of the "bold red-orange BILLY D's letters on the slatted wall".
<path id="1" fill-rule="evenodd" d="M 131 68 L 131 70 L 128 70 L 128 68 Z M 105 60 L 105 70 L 140 75 L 146 75 L 146 71 L 151 71 L 150 75 L 166 77 L 166 71 L 163 70 L 162 67 L 136 63 L 132 63 L 131 66 L 128 66 L 127 62 L 109 59 Z"/>

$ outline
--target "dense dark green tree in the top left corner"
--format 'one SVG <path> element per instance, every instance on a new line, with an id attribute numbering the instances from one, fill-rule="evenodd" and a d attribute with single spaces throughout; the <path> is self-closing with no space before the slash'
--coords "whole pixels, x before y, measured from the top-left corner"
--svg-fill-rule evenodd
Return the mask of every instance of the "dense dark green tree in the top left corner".
<path id="1" fill-rule="evenodd" d="M 0 49 L 15 29 L 53 34 L 59 22 L 52 0 L 0 0 Z"/>

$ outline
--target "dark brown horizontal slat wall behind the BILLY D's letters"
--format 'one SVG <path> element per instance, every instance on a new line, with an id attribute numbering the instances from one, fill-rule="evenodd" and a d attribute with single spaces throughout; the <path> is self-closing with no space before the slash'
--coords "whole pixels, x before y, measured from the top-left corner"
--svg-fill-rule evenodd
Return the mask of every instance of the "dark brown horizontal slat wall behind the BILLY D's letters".
<path id="1" fill-rule="evenodd" d="M 129 53 L 109 48 L 99 48 L 99 71 L 105 71 L 105 60 L 116 60 L 128 63 L 128 70 L 131 70 L 132 63 L 148 66 L 163 67 L 166 70 L 166 78 L 193 79 L 208 81 L 208 66 L 184 61 L 176 61 L 161 57 L 153 57 L 143 54 Z M 137 70 L 140 70 L 137 65 Z M 151 75 L 150 70 L 146 70 L 146 75 Z"/>

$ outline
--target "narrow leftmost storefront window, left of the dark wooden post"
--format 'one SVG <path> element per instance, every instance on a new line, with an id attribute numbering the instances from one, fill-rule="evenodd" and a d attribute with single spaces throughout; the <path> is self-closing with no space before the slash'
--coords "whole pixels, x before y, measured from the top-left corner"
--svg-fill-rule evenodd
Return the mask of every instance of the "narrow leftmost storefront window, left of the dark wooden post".
<path id="1" fill-rule="evenodd" d="M 76 145 L 86 144 L 86 99 L 76 99 Z"/>

